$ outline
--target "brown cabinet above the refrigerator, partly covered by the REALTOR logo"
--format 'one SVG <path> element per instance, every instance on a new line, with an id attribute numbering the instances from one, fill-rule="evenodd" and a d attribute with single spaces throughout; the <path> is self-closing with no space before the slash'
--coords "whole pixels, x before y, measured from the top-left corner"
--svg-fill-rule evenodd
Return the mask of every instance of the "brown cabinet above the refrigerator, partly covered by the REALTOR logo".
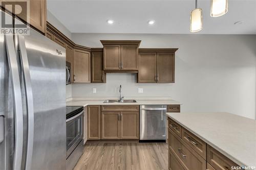
<path id="1" fill-rule="evenodd" d="M 26 0 L 29 2 L 29 16 L 23 13 L 18 14 L 18 18 L 22 19 L 34 29 L 42 34 L 46 32 L 46 0 Z M 0 0 L 0 2 L 4 2 Z M 18 1 L 17 1 L 18 2 Z M 10 3 L 10 2 L 8 2 Z M 13 1 L 15 4 L 15 2 Z M 4 7 L 2 7 L 4 8 Z M 8 10 L 8 9 L 7 9 Z"/>

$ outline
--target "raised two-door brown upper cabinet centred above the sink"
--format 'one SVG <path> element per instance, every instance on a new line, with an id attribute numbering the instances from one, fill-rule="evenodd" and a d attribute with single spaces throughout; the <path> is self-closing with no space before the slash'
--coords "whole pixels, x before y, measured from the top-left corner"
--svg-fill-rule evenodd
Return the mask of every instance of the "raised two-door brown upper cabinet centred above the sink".
<path id="1" fill-rule="evenodd" d="M 103 44 L 103 70 L 137 71 L 140 41 L 101 40 Z"/>

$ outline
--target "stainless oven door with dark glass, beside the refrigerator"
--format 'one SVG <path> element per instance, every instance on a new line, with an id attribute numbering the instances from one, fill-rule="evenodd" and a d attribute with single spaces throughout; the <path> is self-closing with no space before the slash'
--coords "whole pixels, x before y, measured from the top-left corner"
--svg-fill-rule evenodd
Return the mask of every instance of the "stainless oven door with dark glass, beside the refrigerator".
<path id="1" fill-rule="evenodd" d="M 67 122 L 67 157 L 74 151 L 83 138 L 83 111 L 66 120 Z"/>

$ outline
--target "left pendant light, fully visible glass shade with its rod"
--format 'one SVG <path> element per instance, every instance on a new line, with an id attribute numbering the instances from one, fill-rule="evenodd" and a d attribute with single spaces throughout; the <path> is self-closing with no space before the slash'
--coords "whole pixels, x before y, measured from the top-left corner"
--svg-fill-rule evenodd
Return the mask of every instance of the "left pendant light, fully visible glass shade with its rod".
<path id="1" fill-rule="evenodd" d="M 190 32 L 195 33 L 203 29 L 203 15 L 202 9 L 197 8 L 196 0 L 196 9 L 190 12 Z"/>

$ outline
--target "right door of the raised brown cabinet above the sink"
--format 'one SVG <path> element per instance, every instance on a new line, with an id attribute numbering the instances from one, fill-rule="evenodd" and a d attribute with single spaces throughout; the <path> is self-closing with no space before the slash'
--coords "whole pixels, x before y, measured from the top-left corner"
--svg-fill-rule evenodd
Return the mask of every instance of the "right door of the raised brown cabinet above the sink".
<path id="1" fill-rule="evenodd" d="M 121 45 L 121 69 L 138 70 L 138 45 Z"/>

